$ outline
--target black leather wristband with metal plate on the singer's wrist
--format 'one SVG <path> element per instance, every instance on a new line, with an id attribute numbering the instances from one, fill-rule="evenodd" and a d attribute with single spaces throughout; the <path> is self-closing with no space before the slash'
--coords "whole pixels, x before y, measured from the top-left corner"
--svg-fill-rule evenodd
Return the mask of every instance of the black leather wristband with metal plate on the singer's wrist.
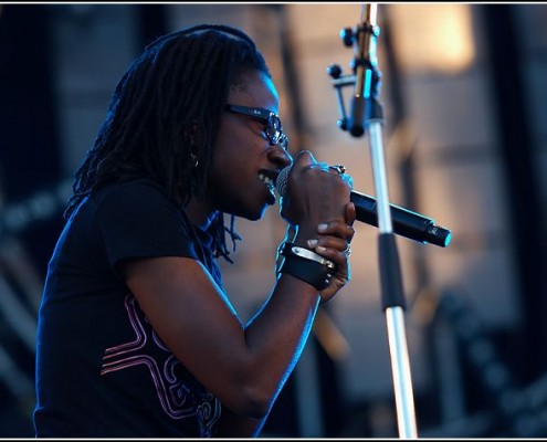
<path id="1" fill-rule="evenodd" d="M 312 284 L 318 291 L 326 288 L 328 284 L 330 284 L 330 278 L 333 277 L 335 270 L 335 265 L 332 261 L 328 261 L 307 249 L 296 248 L 292 243 L 283 244 L 281 254 L 285 259 L 280 269 L 280 273 L 288 273 L 301 281 Z"/>

